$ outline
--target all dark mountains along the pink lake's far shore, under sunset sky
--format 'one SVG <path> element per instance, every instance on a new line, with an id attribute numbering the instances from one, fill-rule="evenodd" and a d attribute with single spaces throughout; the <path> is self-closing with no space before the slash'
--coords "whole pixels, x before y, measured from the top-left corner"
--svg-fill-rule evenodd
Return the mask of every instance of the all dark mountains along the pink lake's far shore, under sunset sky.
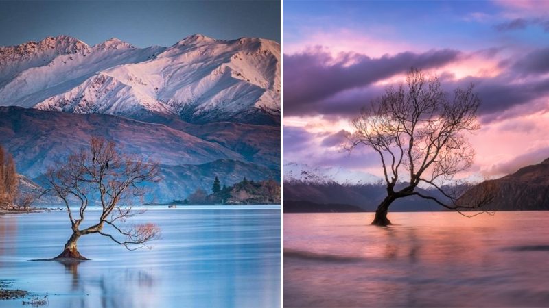
<path id="1" fill-rule="evenodd" d="M 284 172 L 286 174 L 289 171 L 285 169 Z M 465 193 L 460 196 L 458 203 L 466 205 L 475 204 L 486 194 L 493 194 L 493 201 L 481 208 L 484 211 L 549 210 L 549 158 L 499 179 L 469 184 L 463 188 Z M 445 197 L 437 190 L 416 190 L 445 202 Z M 352 206 L 364 211 L 375 211 L 386 196 L 386 188 L 382 182 L 340 183 L 334 177 L 319 173 L 317 169 L 303 169 L 301 177 L 284 178 L 283 193 L 284 205 L 288 203 L 290 207 L 288 212 L 349 211 Z M 390 206 L 390 211 L 443 210 L 445 208 L 434 201 L 416 196 L 398 199 Z"/>

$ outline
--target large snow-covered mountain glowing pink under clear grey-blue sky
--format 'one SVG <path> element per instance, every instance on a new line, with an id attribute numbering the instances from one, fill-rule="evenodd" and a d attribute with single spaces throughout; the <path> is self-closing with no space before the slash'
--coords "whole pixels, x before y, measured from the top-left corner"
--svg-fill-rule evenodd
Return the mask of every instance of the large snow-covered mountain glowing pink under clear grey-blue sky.
<path id="1" fill-rule="evenodd" d="M 138 120 L 262 123 L 280 110 L 280 46 L 200 34 L 140 49 L 69 36 L 0 49 L 0 105 Z"/>

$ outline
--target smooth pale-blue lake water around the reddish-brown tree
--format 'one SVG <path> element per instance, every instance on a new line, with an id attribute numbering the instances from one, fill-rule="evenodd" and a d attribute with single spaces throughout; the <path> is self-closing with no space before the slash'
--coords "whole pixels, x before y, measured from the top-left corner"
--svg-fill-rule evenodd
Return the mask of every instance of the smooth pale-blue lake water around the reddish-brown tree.
<path id="1" fill-rule="evenodd" d="M 151 250 L 86 235 L 79 251 L 92 260 L 64 266 L 29 260 L 62 251 L 66 212 L 0 216 L 0 279 L 55 308 L 280 307 L 280 207 L 149 209 L 137 220 L 161 228 Z"/>

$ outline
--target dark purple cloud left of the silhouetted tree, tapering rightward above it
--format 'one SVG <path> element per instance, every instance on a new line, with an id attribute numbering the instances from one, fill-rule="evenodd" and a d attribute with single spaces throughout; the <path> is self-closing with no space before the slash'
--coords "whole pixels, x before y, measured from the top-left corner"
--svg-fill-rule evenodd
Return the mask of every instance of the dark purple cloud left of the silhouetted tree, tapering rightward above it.
<path id="1" fill-rule="evenodd" d="M 284 112 L 300 114 L 344 90 L 368 86 L 404 73 L 412 66 L 441 66 L 457 60 L 460 55 L 459 51 L 442 49 L 384 55 L 377 59 L 356 53 L 340 53 L 334 58 L 320 48 L 284 55 Z M 310 112 L 314 113 L 314 110 Z"/>

